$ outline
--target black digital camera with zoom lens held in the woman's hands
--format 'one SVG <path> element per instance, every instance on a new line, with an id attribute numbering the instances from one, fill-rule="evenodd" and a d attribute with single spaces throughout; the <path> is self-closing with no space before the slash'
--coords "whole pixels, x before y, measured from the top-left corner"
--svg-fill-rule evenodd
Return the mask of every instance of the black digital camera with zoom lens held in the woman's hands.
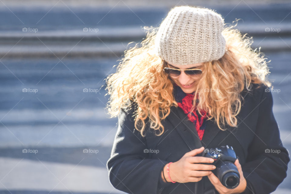
<path id="1" fill-rule="evenodd" d="M 205 149 L 202 156 L 214 159 L 212 165 L 216 166 L 216 169 L 212 170 L 212 172 L 223 186 L 228 189 L 234 189 L 239 185 L 239 171 L 234 164 L 237 158 L 232 146 L 226 145 L 221 146 L 220 149 Z"/>

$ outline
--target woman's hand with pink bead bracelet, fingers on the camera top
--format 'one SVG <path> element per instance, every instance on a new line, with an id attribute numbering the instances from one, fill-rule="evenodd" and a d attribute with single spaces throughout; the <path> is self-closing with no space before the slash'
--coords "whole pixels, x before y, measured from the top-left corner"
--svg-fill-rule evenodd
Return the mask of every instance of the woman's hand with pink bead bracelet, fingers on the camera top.
<path id="1" fill-rule="evenodd" d="M 196 156 L 204 150 L 204 147 L 193 149 L 187 152 L 177 162 L 170 164 L 169 173 L 172 181 L 174 182 L 198 182 L 203 176 L 211 173 L 215 169 L 214 165 L 199 164 L 199 163 L 212 163 L 213 159 Z M 198 164 L 197 164 L 198 163 Z M 168 182 L 170 182 L 167 172 L 167 166 L 164 167 L 164 174 Z"/>

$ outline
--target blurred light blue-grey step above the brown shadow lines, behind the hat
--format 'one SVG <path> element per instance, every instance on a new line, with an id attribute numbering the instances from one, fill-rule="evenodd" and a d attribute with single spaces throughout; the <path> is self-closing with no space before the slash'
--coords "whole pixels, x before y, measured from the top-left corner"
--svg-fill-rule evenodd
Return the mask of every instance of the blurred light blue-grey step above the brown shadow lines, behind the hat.
<path id="1" fill-rule="evenodd" d="M 235 23 L 232 23 L 234 25 Z M 227 23 L 226 26 L 229 26 Z M 38 28 L 18 28 L 14 30 L 1 30 L 0 41 L 8 40 L 79 40 L 85 38 L 85 40 L 99 40 L 102 41 L 118 41 L 129 40 L 133 38 L 143 38 L 146 30 L 141 26 L 87 26 L 81 28 L 81 26 L 75 26 L 68 29 L 47 29 L 42 26 Z M 289 22 L 244 22 L 238 21 L 237 26 L 243 34 L 248 33 L 254 36 L 291 36 L 291 23 Z M 99 40 L 100 41 L 100 40 Z"/>

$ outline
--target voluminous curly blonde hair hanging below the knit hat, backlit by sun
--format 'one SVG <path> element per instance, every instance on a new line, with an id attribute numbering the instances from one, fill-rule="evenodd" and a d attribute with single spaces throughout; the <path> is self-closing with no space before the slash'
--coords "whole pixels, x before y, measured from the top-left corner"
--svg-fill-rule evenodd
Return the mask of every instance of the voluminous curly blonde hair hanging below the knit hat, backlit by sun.
<path id="1" fill-rule="evenodd" d="M 251 83 L 271 86 L 267 80 L 269 68 L 265 55 L 251 48 L 253 37 L 242 35 L 234 29 L 236 25 L 225 26 L 222 31 L 226 39 L 222 58 L 203 63 L 205 70 L 197 80 L 192 106 L 192 110 L 196 108 L 199 114 L 200 110 L 205 110 L 207 119 L 214 118 L 221 130 L 226 130 L 222 128 L 226 122 L 237 126 L 236 115 L 241 109 L 243 99 L 240 93 L 243 89 L 251 91 Z M 145 26 L 144 29 L 147 30 L 146 38 L 140 45 L 135 44 L 126 50 L 116 73 L 106 78 L 105 90 L 110 95 L 106 109 L 112 118 L 119 114 L 121 108 L 127 109 L 134 102 L 137 105 L 135 129 L 145 136 L 145 121 L 148 119 L 150 128 L 159 130 L 156 134 L 159 136 L 164 132 L 161 120 L 169 115 L 171 106 L 178 107 L 178 104 L 173 95 L 174 82 L 163 71 L 165 61 L 154 52 L 158 27 Z"/>

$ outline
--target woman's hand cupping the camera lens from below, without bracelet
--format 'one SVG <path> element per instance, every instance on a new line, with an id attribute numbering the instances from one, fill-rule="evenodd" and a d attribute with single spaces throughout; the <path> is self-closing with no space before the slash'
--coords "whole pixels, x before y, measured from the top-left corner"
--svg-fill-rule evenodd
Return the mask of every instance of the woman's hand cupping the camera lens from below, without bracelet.
<path id="1" fill-rule="evenodd" d="M 246 189 L 246 179 L 243 176 L 243 170 L 241 165 L 239 164 L 239 160 L 236 159 L 236 162 L 234 163 L 239 171 L 239 176 L 240 176 L 240 181 L 239 181 L 239 186 L 237 186 L 235 189 L 228 189 L 225 186 L 223 186 L 220 182 L 220 180 L 215 176 L 213 173 L 208 175 L 208 179 L 210 182 L 213 184 L 215 189 L 220 193 L 220 194 L 236 194 L 236 193 L 242 193 Z"/>

